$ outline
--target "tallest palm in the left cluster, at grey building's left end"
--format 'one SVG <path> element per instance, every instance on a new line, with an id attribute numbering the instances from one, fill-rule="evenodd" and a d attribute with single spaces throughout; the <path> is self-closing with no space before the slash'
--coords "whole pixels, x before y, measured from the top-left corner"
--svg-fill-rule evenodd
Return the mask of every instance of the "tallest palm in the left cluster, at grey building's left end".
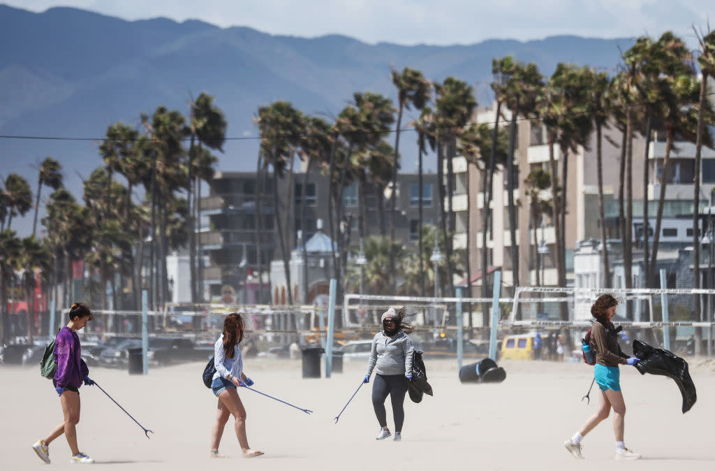
<path id="1" fill-rule="evenodd" d="M 201 284 L 197 283 L 201 279 L 201 274 L 197 266 L 197 223 L 199 221 L 199 201 L 202 178 L 197 177 L 200 172 L 197 162 L 197 153 L 201 158 L 202 146 L 212 150 L 223 152 L 223 145 L 226 140 L 226 118 L 219 107 L 213 105 L 213 97 L 202 92 L 196 101 L 189 102 L 189 135 L 191 144 L 189 147 L 189 165 L 187 200 L 189 203 L 189 215 L 187 218 L 189 237 L 189 267 L 191 276 L 191 300 L 195 303 L 199 300 L 199 293 L 202 293 Z M 198 151 L 197 152 L 197 147 Z M 204 160 L 204 165 L 206 160 Z M 204 167 L 206 168 L 206 167 Z M 212 173 L 212 171 L 211 171 Z M 205 175 L 205 173 L 204 173 Z M 192 193 L 195 195 L 192 201 Z M 201 253 L 200 248 L 198 253 Z"/>

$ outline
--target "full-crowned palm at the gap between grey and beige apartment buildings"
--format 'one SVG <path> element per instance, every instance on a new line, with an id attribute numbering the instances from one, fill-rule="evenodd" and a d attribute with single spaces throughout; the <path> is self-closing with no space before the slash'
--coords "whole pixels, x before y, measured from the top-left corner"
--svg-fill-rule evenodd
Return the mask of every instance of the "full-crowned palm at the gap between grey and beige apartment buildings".
<path id="1" fill-rule="evenodd" d="M 470 122 L 472 113 L 477 107 L 477 100 L 474 97 L 473 88 L 466 82 L 463 82 L 454 77 L 447 77 L 441 84 L 435 84 L 435 127 L 438 132 L 438 180 L 440 189 L 443 188 L 443 180 L 441 179 L 441 168 L 443 152 L 447 154 L 447 203 L 448 208 L 444 210 L 444 191 L 440 193 L 440 220 L 442 231 L 447 243 L 447 267 L 448 277 L 447 283 L 450 295 L 454 294 L 453 272 L 454 266 L 452 263 L 452 230 L 454 227 L 454 213 L 452 210 L 452 184 L 453 184 L 453 157 L 455 157 L 456 140 L 463 132 L 464 127 Z M 441 145 L 440 145 L 441 144 Z M 442 152 L 440 152 L 440 148 Z M 449 230 L 447 228 L 449 227 Z"/>

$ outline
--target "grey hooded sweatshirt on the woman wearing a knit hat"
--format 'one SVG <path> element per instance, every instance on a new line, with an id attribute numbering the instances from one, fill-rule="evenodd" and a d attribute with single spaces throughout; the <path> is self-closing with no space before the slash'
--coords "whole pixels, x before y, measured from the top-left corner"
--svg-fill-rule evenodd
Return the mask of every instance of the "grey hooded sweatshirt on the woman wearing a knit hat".
<path id="1" fill-rule="evenodd" d="M 385 331 L 378 332 L 370 351 L 368 377 L 373 374 L 373 369 L 383 376 L 412 374 L 413 351 L 415 347 L 405 332 L 400 331 L 391 338 L 385 335 Z"/>

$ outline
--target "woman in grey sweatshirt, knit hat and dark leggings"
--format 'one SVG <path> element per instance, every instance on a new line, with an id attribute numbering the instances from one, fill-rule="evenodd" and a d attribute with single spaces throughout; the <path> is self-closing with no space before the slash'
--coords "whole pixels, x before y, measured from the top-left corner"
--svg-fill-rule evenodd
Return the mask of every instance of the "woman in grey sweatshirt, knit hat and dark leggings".
<path id="1" fill-rule="evenodd" d="M 405 422 L 405 394 L 408 389 L 408 381 L 412 381 L 412 359 L 415 347 L 407 335 L 412 328 L 405 322 L 404 308 L 397 313 L 395 309 L 390 308 L 383 313 L 380 320 L 383 330 L 375 334 L 373 338 L 368 372 L 365 374 L 363 383 L 370 382 L 370 375 L 375 369 L 373 407 L 380 424 L 380 432 L 375 438 L 385 440 L 392 436 L 385 412 L 385 399 L 390 396 L 395 421 L 393 440 L 399 442 L 402 440 L 402 427 Z"/>

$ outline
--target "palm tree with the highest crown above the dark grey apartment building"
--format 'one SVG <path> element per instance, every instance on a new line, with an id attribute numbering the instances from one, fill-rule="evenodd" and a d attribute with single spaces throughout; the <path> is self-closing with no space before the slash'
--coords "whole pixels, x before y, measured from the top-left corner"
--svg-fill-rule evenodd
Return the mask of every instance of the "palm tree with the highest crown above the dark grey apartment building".
<path id="1" fill-rule="evenodd" d="M 395 246 L 395 203 L 396 190 L 398 184 L 398 155 L 400 153 L 400 126 L 402 125 L 403 111 L 410 110 L 410 105 L 415 107 L 415 110 L 422 110 L 430 101 L 432 94 L 432 84 L 428 79 L 425 79 L 422 72 L 410 67 L 405 67 L 400 73 L 397 70 L 392 70 L 392 79 L 395 88 L 398 89 L 398 122 L 397 131 L 395 132 L 395 156 L 393 158 L 393 195 L 390 198 L 390 241 Z M 420 195 L 422 198 L 422 195 Z M 395 253 L 390 254 L 390 270 L 395 271 Z M 396 286 L 393 286 L 393 291 Z"/>

